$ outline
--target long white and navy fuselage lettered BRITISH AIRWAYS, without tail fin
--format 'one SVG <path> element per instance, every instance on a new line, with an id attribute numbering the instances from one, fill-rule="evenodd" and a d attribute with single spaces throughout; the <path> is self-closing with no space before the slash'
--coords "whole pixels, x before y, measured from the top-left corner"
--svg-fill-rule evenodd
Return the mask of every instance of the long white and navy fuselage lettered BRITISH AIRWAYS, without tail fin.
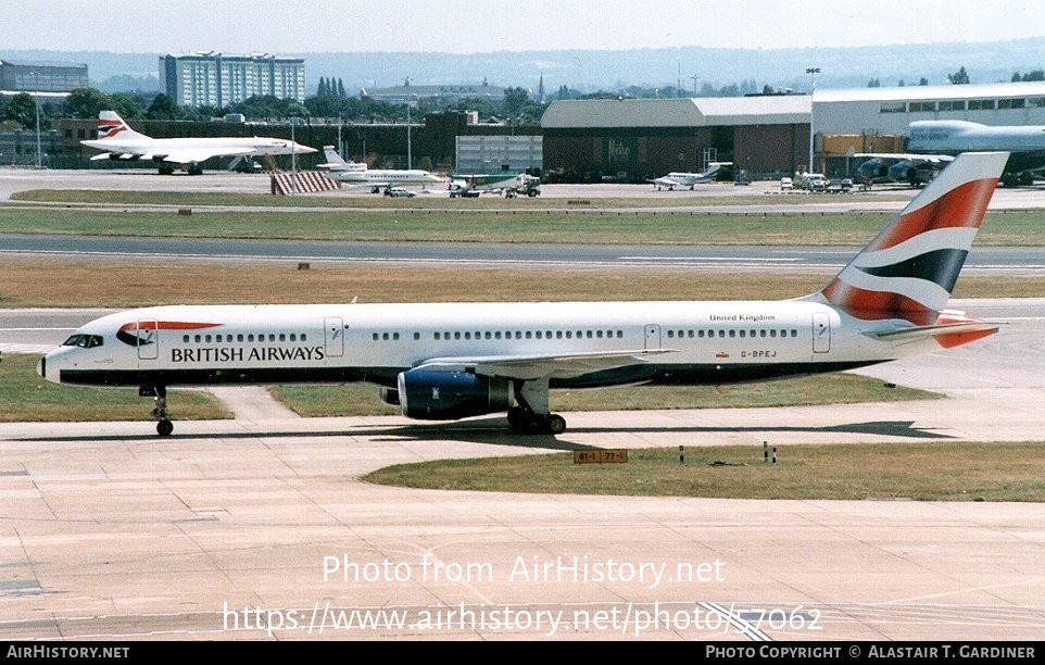
<path id="1" fill-rule="evenodd" d="M 905 349 L 810 302 L 628 302 L 162 306 L 88 324 L 49 354 L 50 380 L 101 386 L 369 381 L 431 359 L 482 364 L 552 354 L 657 351 L 626 367 L 592 365 L 552 387 L 727 384 L 893 360 Z M 452 361 L 448 361 L 451 362 Z"/>

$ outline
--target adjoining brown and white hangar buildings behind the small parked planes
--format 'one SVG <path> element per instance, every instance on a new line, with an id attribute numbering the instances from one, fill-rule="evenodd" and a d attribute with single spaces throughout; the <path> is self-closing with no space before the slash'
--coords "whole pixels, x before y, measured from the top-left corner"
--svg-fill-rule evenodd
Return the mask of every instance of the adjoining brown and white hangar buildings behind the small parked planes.
<path id="1" fill-rule="evenodd" d="M 644 181 L 733 162 L 756 177 L 849 176 L 860 152 L 903 152 L 907 125 L 1045 125 L 1045 81 L 897 86 L 693 99 L 554 101 L 541 118 L 545 179 Z"/>

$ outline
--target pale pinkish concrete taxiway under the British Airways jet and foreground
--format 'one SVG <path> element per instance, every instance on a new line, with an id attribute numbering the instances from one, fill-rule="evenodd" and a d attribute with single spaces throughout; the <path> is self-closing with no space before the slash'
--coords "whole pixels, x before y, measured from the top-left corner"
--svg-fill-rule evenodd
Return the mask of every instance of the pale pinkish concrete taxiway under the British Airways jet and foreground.
<path id="1" fill-rule="evenodd" d="M 1038 640 L 1040 504 L 736 501 L 370 485 L 441 457 L 764 441 L 1040 440 L 1045 301 L 977 344 L 881 365 L 944 400 L 502 419 L 0 425 L 0 638 Z M 979 305 L 979 306 L 973 306 Z M 129 396 L 128 399 L 133 399 Z M 225 396 L 228 398 L 228 396 Z M 569 462 L 564 462 L 569 464 Z M 694 467 L 694 481 L 714 468 Z M 874 473 L 873 468 L 868 473 Z"/>

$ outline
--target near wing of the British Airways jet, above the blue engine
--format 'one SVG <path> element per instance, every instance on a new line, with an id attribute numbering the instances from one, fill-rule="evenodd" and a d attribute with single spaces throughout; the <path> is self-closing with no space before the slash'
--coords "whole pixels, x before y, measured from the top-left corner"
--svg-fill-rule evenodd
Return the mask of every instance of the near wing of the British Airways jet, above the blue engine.
<path id="1" fill-rule="evenodd" d="M 484 376 L 531 380 L 570 378 L 627 367 L 646 362 L 643 356 L 673 353 L 673 349 L 639 349 L 633 351 L 592 351 L 587 353 L 534 353 L 524 355 L 477 355 L 429 359 L 414 369 L 462 372 L 466 368 Z"/>

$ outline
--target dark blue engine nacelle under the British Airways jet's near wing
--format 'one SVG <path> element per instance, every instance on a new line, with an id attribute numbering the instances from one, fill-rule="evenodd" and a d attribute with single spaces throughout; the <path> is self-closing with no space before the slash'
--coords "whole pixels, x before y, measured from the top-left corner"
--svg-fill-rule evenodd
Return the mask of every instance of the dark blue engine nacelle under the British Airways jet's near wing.
<path id="1" fill-rule="evenodd" d="M 411 369 L 399 375 L 398 384 L 403 415 L 419 421 L 456 421 L 507 411 L 515 401 L 512 381 L 468 372 Z"/>

